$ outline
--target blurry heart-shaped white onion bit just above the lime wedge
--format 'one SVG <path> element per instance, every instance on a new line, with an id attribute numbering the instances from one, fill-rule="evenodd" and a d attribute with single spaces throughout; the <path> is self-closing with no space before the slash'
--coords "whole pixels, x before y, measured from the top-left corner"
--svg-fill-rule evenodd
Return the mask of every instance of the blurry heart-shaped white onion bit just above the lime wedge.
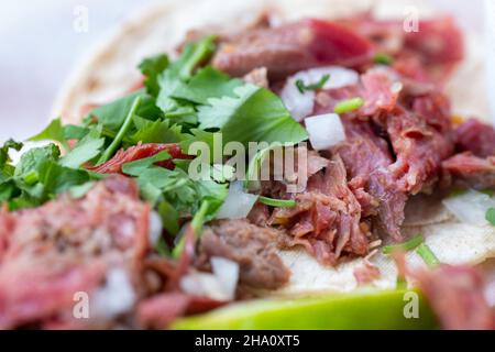
<path id="1" fill-rule="evenodd" d="M 180 289 L 190 295 L 217 300 L 233 300 L 239 280 L 239 264 L 212 257 L 213 274 L 193 272 L 180 279 Z"/>

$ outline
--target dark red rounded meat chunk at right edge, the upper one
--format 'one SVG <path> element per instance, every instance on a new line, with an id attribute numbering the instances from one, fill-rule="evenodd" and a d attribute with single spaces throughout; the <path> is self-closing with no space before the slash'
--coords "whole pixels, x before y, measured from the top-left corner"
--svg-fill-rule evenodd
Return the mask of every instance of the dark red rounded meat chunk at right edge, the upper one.
<path id="1" fill-rule="evenodd" d="M 495 129 L 476 119 L 469 119 L 455 130 L 457 147 L 476 156 L 495 156 Z"/>

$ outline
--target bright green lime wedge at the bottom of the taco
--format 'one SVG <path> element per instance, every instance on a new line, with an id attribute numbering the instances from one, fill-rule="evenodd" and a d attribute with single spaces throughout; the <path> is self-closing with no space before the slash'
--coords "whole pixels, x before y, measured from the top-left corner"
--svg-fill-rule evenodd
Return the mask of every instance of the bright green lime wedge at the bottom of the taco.
<path id="1" fill-rule="evenodd" d="M 437 329 L 426 299 L 415 290 L 375 290 L 298 299 L 260 299 L 183 318 L 184 330 Z"/>

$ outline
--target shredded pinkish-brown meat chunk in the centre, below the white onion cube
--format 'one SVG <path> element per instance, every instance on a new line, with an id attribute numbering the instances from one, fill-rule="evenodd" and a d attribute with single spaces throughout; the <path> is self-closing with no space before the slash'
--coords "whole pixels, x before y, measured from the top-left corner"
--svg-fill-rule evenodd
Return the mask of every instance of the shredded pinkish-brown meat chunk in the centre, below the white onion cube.
<path id="1" fill-rule="evenodd" d="M 309 179 L 306 193 L 295 196 L 296 208 L 276 208 L 271 223 L 288 229 L 286 245 L 302 244 L 323 264 L 334 265 L 343 254 L 364 255 L 367 233 L 361 206 L 348 187 L 345 168 L 336 155 L 324 174 Z"/>

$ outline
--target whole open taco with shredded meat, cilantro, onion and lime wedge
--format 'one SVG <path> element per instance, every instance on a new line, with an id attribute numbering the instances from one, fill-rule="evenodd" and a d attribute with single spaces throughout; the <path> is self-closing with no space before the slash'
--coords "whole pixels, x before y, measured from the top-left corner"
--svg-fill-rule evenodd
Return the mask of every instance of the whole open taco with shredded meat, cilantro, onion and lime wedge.
<path id="1" fill-rule="evenodd" d="M 483 56 L 404 3 L 128 23 L 1 150 L 0 328 L 494 328 Z"/>

